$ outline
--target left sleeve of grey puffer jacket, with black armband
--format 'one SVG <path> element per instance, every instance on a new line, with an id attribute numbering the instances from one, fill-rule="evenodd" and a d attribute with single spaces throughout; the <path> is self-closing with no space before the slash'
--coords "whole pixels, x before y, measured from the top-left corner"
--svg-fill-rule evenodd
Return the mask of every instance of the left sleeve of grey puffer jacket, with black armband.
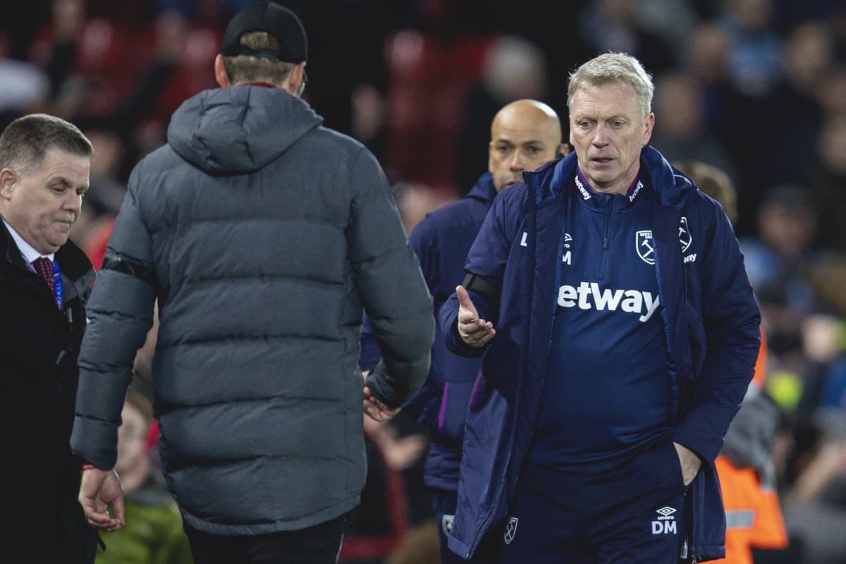
<path id="1" fill-rule="evenodd" d="M 76 455 L 102 469 L 113 468 L 117 458 L 120 412 L 135 353 L 152 325 L 156 298 L 150 233 L 136 200 L 137 178 L 136 168 L 88 302 L 80 350 L 70 444 Z"/>

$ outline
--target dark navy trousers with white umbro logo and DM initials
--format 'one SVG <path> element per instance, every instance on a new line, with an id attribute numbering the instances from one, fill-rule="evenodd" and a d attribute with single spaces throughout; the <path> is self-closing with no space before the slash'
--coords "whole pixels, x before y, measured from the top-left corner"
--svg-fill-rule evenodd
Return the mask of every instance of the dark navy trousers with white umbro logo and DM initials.
<path id="1" fill-rule="evenodd" d="M 669 438 L 611 470 L 527 463 L 503 529 L 503 564 L 678 564 L 686 490 Z"/>

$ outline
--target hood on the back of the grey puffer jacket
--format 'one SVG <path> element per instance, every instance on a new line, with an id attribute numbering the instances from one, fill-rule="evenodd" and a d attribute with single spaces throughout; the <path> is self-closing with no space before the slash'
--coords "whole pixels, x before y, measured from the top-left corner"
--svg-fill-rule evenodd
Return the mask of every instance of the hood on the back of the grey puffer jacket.
<path id="1" fill-rule="evenodd" d="M 168 144 L 209 174 L 243 174 L 265 167 L 321 123 L 286 90 L 217 88 L 190 97 L 173 113 Z"/>

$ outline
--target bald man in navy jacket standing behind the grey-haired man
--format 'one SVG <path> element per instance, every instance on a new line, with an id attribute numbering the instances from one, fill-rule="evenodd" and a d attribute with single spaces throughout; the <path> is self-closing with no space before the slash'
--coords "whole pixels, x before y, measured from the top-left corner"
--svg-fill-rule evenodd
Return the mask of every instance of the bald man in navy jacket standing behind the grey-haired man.
<path id="1" fill-rule="evenodd" d="M 428 214 L 409 236 L 435 303 L 435 316 L 464 279 L 464 263 L 494 197 L 523 181 L 524 171 L 566 154 L 558 115 L 546 104 L 518 100 L 493 118 L 488 144 L 488 166 L 464 199 Z M 369 320 L 367 320 L 369 321 Z M 378 349 L 365 321 L 362 370 L 378 361 Z M 440 335 L 431 351 L 431 370 L 420 393 L 405 408 L 431 430 L 424 481 L 441 540 L 442 562 L 464 562 L 447 548 L 459 487 L 464 419 L 472 401 L 480 359 L 450 353 Z"/>

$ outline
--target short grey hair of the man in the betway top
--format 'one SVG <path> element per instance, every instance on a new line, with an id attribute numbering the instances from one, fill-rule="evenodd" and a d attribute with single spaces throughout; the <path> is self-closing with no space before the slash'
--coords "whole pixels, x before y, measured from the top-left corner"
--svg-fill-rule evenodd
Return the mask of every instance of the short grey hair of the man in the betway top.
<path id="1" fill-rule="evenodd" d="M 647 73 L 636 58 L 626 53 L 603 53 L 582 64 L 570 74 L 567 86 L 567 108 L 573 109 L 573 96 L 583 85 L 601 86 L 608 84 L 627 84 L 640 96 L 643 118 L 652 112 L 652 75 Z"/>

